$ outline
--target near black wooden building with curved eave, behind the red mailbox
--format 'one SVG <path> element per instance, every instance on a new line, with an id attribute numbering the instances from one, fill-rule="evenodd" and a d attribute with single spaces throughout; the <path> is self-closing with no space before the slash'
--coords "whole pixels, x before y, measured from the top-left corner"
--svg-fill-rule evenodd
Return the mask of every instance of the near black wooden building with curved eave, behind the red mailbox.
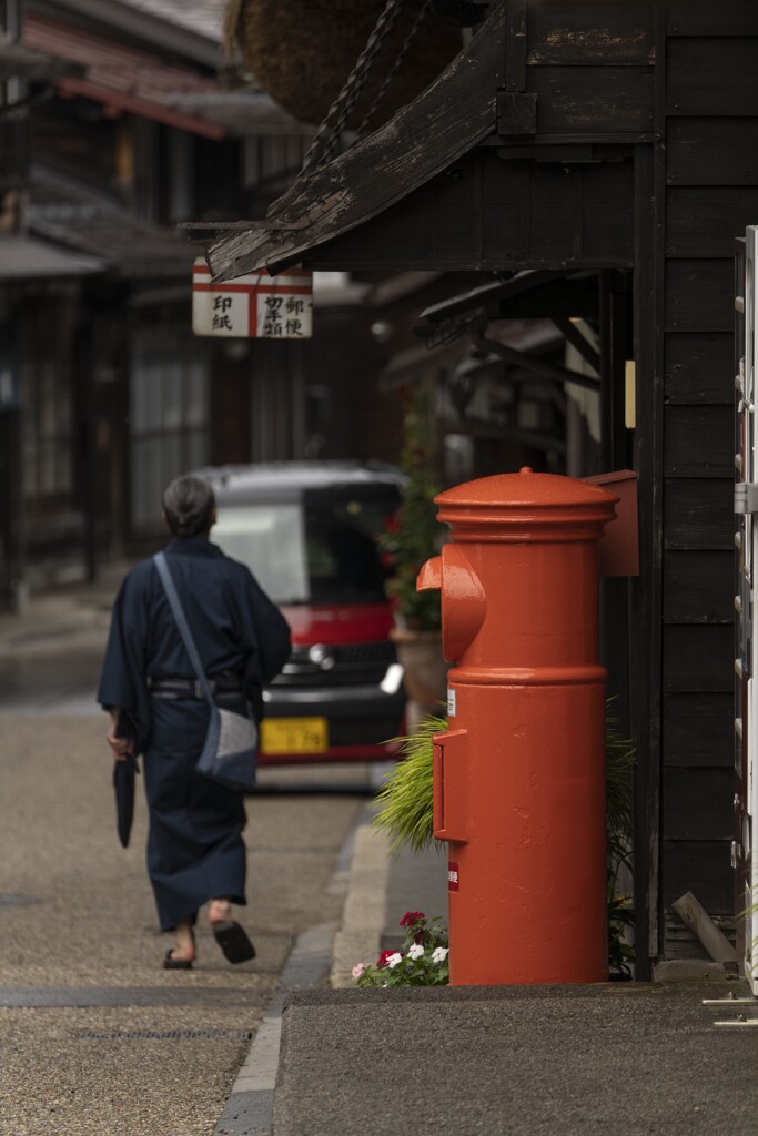
<path id="1" fill-rule="evenodd" d="M 683 893 L 735 912 L 733 250 L 758 222 L 758 7 L 484 7 L 431 87 L 208 259 L 475 270 L 485 318 L 598 327 L 602 469 L 639 481 L 641 575 L 607 588 L 603 638 L 638 745 L 644 977 L 700 950 Z"/>

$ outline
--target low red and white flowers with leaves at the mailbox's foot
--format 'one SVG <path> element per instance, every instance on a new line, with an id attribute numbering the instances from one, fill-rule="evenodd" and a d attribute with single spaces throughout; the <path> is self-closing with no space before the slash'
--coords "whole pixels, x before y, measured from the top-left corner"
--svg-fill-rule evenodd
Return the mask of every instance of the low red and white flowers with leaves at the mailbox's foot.
<path id="1" fill-rule="evenodd" d="M 358 986 L 447 986 L 450 982 L 448 932 L 440 916 L 406 911 L 400 926 L 406 937 L 399 951 L 382 951 L 376 966 L 359 962 L 352 977 Z"/>

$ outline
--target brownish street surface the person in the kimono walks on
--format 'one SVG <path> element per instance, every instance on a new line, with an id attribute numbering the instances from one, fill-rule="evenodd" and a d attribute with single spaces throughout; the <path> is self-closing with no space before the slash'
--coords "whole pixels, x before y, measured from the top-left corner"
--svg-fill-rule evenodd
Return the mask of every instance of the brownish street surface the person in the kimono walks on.
<path id="1" fill-rule="evenodd" d="M 207 925 L 191 972 L 165 971 L 144 870 L 115 832 L 102 632 L 0 657 L 0 1134 L 210 1136 L 299 935 L 336 925 L 341 852 L 366 766 L 264 770 L 248 801 L 258 949 L 231 967 Z"/>

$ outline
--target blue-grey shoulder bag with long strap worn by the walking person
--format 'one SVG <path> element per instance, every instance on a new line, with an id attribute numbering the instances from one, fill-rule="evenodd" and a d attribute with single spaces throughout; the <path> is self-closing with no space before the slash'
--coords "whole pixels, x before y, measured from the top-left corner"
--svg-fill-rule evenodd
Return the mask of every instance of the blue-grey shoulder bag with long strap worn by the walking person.
<path id="1" fill-rule="evenodd" d="M 258 760 L 258 727 L 252 718 L 223 710 L 216 705 L 210 684 L 206 677 L 192 632 L 172 578 L 168 561 L 163 552 L 153 557 L 166 599 L 170 605 L 182 642 L 194 668 L 200 688 L 210 707 L 208 733 L 198 758 L 195 769 L 203 777 L 225 785 L 227 788 L 245 792 L 256 784 Z"/>

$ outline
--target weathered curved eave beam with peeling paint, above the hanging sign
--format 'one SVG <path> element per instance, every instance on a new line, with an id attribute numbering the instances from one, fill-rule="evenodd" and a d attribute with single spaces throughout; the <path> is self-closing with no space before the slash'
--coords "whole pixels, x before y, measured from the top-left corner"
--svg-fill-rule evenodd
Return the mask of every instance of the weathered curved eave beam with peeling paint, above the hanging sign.
<path id="1" fill-rule="evenodd" d="M 384 212 L 472 150 L 497 123 L 506 3 L 448 68 L 390 122 L 274 202 L 266 220 L 208 249 L 214 281 L 274 273 Z"/>

